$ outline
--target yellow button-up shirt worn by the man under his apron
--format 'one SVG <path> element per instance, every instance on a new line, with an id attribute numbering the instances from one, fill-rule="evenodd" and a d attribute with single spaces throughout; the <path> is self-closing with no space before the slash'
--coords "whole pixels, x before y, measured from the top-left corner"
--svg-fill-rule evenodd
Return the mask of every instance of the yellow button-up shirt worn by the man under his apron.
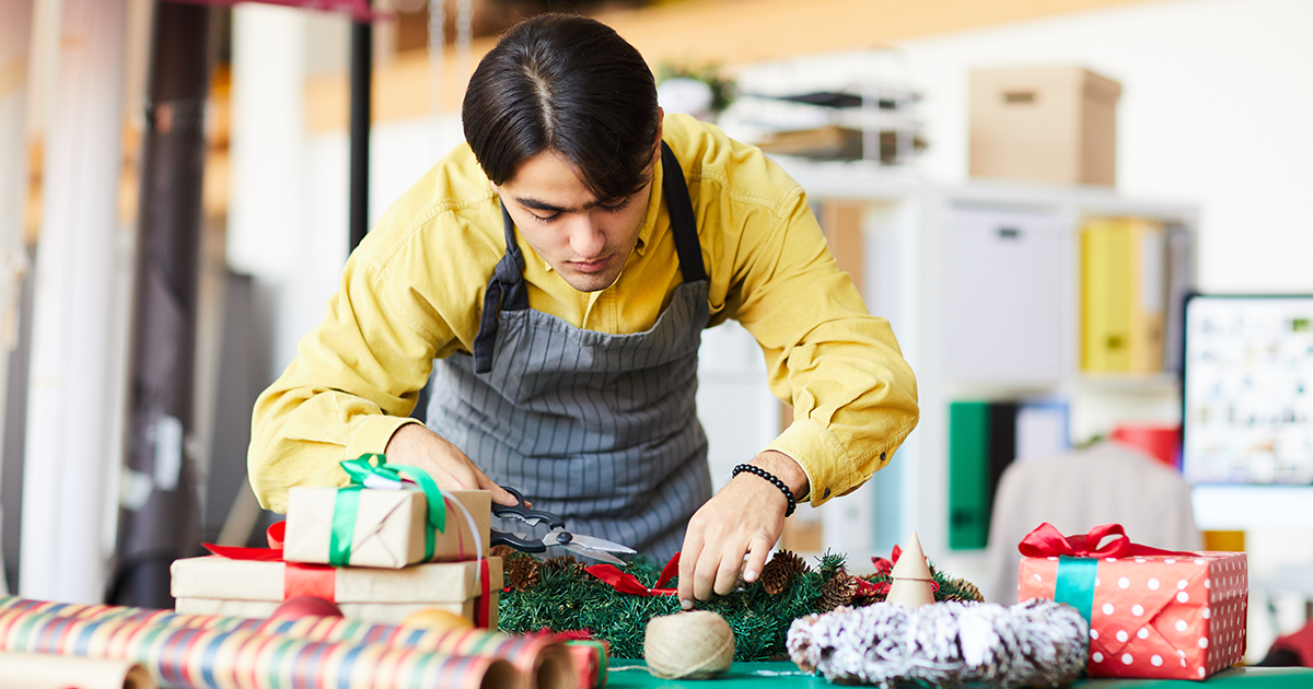
<path id="1" fill-rule="evenodd" d="M 916 382 L 889 323 L 835 268 L 802 188 L 759 150 L 678 114 L 666 117 L 664 140 L 692 197 L 712 325 L 733 318 L 747 328 L 771 392 L 793 406 L 793 424 L 764 449 L 802 466 L 813 504 L 852 491 L 916 425 Z M 605 333 L 656 323 L 683 281 L 663 173 L 656 165 L 638 244 L 605 290 L 575 290 L 519 238 L 532 308 Z M 471 350 L 503 253 L 498 196 L 462 144 L 352 252 L 323 323 L 256 400 L 248 465 L 263 505 L 285 511 L 297 484 L 344 486 L 341 459 L 383 451 L 414 423 L 432 360 Z"/>

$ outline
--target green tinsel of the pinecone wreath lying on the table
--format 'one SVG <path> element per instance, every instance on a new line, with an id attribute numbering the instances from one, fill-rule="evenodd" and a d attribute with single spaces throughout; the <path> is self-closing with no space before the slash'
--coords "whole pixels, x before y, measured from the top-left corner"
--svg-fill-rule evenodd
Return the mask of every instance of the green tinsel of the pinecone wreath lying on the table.
<path id="1" fill-rule="evenodd" d="M 532 555 L 512 551 L 504 555 L 506 564 Z M 788 587 L 771 595 L 760 583 L 743 584 L 727 596 L 700 601 L 697 609 L 720 613 L 734 630 L 734 660 L 769 660 L 784 652 L 789 625 L 798 617 L 827 612 L 819 609 L 822 591 L 836 575 L 844 575 L 844 556 L 825 554 L 818 558 L 817 570 L 794 574 Z M 541 631 L 587 630 L 592 637 L 611 643 L 613 658 L 641 659 L 643 634 L 653 617 L 680 612 L 675 596 L 634 596 L 620 593 L 601 580 L 571 566 L 569 560 L 538 563 L 540 579 L 523 591 L 508 581 L 502 592 L 498 617 L 499 629 L 512 634 Z M 554 566 L 553 566 L 554 564 Z M 625 570 L 645 587 L 655 587 L 660 567 L 651 559 L 639 556 Z M 931 566 L 931 575 L 939 589 L 935 600 L 981 600 L 979 591 L 961 579 L 949 579 Z M 889 583 L 886 574 L 864 576 L 873 584 Z M 666 584 L 674 587 L 674 583 Z M 882 587 L 881 587 L 882 588 Z M 878 593 L 853 598 L 850 605 L 860 606 L 884 600 Z"/>

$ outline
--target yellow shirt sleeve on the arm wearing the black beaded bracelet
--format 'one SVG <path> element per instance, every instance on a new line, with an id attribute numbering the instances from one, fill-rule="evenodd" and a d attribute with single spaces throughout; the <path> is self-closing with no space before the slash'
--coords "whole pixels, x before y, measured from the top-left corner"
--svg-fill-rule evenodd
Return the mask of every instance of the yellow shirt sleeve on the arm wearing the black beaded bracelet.
<path id="1" fill-rule="evenodd" d="M 773 213 L 752 215 L 764 227 L 742 231 L 727 302 L 765 354 L 771 391 L 793 406 L 793 424 L 765 449 L 802 466 L 818 505 L 888 465 L 916 425 L 916 379 L 794 188 Z"/>

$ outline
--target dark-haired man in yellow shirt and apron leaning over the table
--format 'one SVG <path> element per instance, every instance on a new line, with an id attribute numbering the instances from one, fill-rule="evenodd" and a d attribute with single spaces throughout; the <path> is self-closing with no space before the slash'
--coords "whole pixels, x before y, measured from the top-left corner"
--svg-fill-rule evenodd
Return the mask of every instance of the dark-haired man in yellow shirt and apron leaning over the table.
<path id="1" fill-rule="evenodd" d="M 462 119 L 467 144 L 379 219 L 256 402 L 261 504 L 385 451 L 502 504 L 498 484 L 515 487 L 578 533 L 681 550 L 689 608 L 754 580 L 796 501 L 852 491 L 915 427 L 913 373 L 802 189 L 756 148 L 664 117 L 613 30 L 519 24 Z M 697 346 L 727 318 L 794 421 L 713 497 Z M 425 427 L 407 415 L 431 371 Z"/>

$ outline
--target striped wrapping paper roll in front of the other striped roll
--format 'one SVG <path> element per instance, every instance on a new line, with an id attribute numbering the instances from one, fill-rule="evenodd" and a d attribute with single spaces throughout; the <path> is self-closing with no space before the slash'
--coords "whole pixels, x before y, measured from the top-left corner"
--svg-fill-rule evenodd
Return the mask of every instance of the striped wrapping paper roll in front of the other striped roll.
<path id="1" fill-rule="evenodd" d="M 524 686 L 496 658 L 456 656 L 381 643 L 334 643 L 248 630 L 168 627 L 14 610 L 0 616 L 0 651 L 140 663 L 164 686 L 349 689 Z"/>

